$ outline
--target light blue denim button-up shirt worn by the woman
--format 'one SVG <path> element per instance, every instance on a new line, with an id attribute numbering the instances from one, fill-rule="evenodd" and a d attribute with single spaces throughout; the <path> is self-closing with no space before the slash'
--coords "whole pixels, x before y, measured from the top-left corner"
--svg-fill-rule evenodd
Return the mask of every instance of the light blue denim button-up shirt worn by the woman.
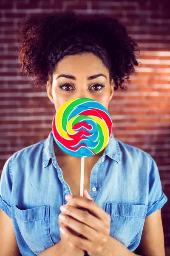
<path id="1" fill-rule="evenodd" d="M 54 143 L 51 131 L 47 139 L 12 154 L 3 167 L 0 208 L 13 221 L 23 256 L 38 255 L 61 240 L 59 207 L 67 204 L 65 195 L 71 189 L 57 163 Z M 110 236 L 130 251 L 139 245 L 145 217 L 167 202 L 150 154 L 113 134 L 91 171 L 90 195 L 111 215 Z"/>

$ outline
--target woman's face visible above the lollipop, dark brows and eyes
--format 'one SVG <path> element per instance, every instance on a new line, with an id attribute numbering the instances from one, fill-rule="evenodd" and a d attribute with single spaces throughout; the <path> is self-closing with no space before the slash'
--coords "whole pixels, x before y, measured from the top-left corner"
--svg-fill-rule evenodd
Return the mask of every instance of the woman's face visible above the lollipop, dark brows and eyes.
<path id="1" fill-rule="evenodd" d="M 72 78 L 63 77 L 63 74 Z M 103 76 L 90 78 L 96 74 Z M 108 109 L 113 88 L 113 79 L 111 85 L 109 83 L 108 70 L 91 52 L 65 56 L 59 61 L 57 71 L 53 74 L 52 87 L 49 81 L 46 86 L 48 98 L 54 104 L 56 112 L 63 103 L 75 98 L 94 99 Z"/>

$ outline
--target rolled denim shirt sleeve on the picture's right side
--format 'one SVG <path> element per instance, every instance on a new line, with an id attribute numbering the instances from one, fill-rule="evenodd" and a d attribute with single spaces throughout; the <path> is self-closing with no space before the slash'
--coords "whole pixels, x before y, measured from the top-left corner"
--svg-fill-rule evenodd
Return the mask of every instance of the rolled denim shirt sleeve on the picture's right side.
<path id="1" fill-rule="evenodd" d="M 146 216 L 161 209 L 166 202 L 167 196 L 162 191 L 158 166 L 156 165 L 155 160 L 150 156 L 149 201 Z"/>

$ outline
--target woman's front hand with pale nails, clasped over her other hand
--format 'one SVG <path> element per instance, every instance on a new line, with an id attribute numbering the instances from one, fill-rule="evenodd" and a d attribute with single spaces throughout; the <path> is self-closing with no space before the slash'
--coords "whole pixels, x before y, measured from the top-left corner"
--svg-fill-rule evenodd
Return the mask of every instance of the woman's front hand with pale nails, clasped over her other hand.
<path id="1" fill-rule="evenodd" d="M 102 256 L 110 234 L 110 215 L 94 202 L 88 192 L 83 191 L 83 197 L 73 195 L 73 198 L 65 199 L 68 201 L 66 212 L 60 208 L 65 215 L 62 221 L 65 239 L 90 256 Z M 78 236 L 73 235 L 70 228 Z"/>

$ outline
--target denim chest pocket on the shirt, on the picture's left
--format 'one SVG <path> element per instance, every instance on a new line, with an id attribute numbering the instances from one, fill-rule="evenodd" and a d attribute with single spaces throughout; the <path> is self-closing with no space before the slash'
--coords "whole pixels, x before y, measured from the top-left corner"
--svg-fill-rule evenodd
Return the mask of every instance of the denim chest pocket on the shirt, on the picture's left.
<path id="1" fill-rule="evenodd" d="M 36 255 L 54 245 L 49 230 L 50 206 L 20 210 L 13 205 L 14 215 L 23 239 Z"/>

